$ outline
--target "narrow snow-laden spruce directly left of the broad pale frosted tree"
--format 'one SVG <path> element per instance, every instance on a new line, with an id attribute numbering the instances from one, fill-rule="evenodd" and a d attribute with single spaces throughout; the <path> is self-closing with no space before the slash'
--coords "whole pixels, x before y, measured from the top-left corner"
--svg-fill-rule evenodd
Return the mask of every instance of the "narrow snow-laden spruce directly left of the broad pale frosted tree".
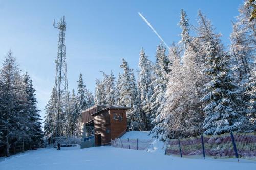
<path id="1" fill-rule="evenodd" d="M 165 48 L 161 45 L 157 46 L 156 63 L 154 65 L 155 80 L 152 81 L 153 94 L 150 98 L 148 109 L 150 110 L 151 126 L 157 125 L 156 117 L 161 113 L 165 103 L 165 93 L 167 89 L 167 74 L 170 72 L 170 61 L 165 55 Z M 151 131 L 151 133 L 154 133 Z"/>

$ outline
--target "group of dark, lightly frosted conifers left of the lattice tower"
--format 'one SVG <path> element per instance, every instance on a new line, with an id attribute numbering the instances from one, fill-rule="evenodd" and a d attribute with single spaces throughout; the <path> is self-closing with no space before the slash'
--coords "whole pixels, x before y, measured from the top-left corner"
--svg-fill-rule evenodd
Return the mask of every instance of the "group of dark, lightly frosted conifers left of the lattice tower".
<path id="1" fill-rule="evenodd" d="M 10 51 L 0 68 L 0 156 L 43 146 L 40 110 L 28 73 Z"/>

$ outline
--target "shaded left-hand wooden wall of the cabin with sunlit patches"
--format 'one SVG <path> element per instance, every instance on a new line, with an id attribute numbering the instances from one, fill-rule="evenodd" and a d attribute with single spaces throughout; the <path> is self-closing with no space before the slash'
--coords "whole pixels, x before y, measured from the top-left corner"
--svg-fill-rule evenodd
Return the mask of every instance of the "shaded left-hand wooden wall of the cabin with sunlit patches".
<path id="1" fill-rule="evenodd" d="M 102 113 L 94 117 L 94 133 L 101 134 L 101 145 L 111 142 L 110 114 L 108 110 L 102 111 Z M 95 140 L 95 142 L 97 141 Z"/>

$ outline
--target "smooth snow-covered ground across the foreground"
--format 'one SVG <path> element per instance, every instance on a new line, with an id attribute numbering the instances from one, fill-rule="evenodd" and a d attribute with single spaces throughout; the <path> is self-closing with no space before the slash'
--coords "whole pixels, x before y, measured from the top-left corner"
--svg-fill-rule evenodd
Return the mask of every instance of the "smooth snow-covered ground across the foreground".
<path id="1" fill-rule="evenodd" d="M 255 163 L 223 162 L 218 160 L 186 159 L 145 151 L 114 147 L 63 147 L 61 150 L 45 148 L 27 151 L 0 159 L 1 170 L 16 169 L 106 169 L 106 170 L 151 170 L 151 169 L 196 169 L 196 170 L 254 170 Z"/>

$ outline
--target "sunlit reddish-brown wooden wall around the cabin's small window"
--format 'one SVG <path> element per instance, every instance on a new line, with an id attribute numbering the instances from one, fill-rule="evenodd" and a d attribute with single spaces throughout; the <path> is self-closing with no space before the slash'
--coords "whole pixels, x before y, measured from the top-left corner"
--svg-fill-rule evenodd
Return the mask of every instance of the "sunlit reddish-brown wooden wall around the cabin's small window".
<path id="1" fill-rule="evenodd" d="M 123 120 L 114 120 L 114 113 L 121 113 L 123 116 Z M 121 137 L 127 129 L 127 118 L 126 118 L 126 110 L 121 109 L 111 109 L 110 110 L 110 123 L 111 123 L 111 139 Z"/>

